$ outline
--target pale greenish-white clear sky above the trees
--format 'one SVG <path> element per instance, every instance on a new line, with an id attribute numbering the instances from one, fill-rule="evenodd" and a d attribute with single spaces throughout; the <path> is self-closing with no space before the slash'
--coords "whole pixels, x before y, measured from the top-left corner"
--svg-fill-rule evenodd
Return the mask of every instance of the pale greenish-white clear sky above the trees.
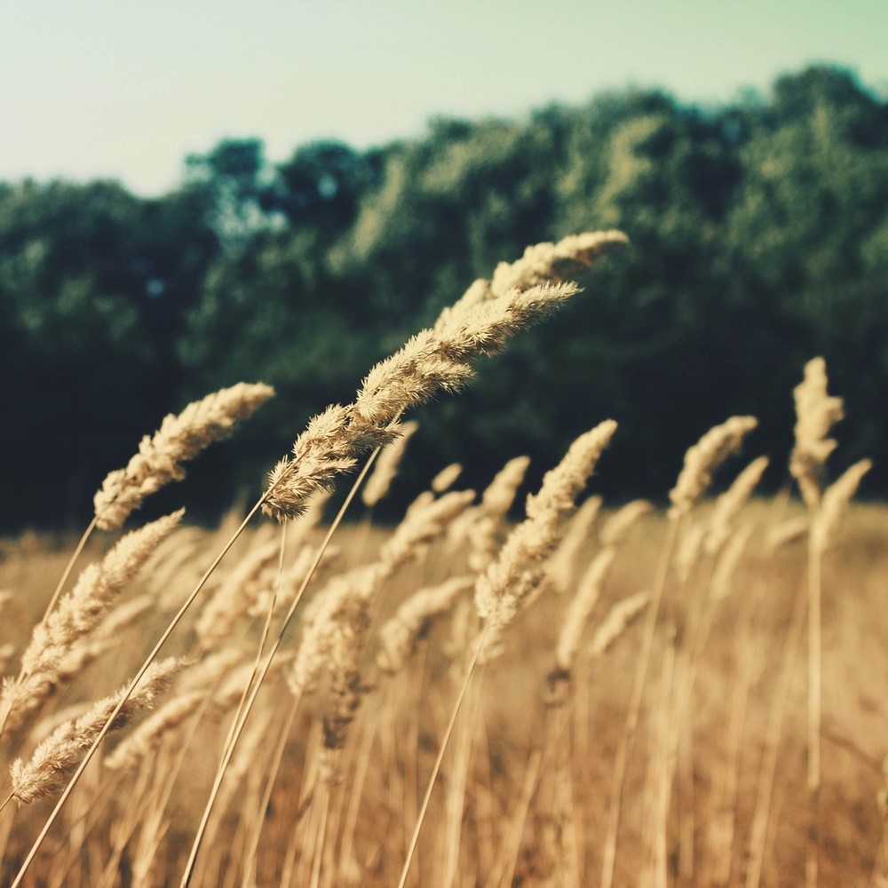
<path id="1" fill-rule="evenodd" d="M 0 179 L 174 187 L 257 136 L 415 136 L 627 85 L 704 103 L 813 62 L 888 94 L 886 0 L 0 0 Z"/>

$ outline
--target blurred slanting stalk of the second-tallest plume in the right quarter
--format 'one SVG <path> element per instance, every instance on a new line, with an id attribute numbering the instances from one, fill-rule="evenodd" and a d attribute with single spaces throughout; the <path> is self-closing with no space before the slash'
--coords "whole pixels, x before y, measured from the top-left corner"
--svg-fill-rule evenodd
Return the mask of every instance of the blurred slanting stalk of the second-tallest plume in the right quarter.
<path id="1" fill-rule="evenodd" d="M 632 696 L 630 698 L 629 712 L 626 716 L 626 726 L 623 729 L 620 746 L 617 749 L 614 761 L 614 781 L 611 786 L 610 809 L 607 815 L 607 835 L 605 837 L 604 862 L 601 869 L 601 888 L 612 888 L 614 884 L 614 863 L 616 862 L 616 840 L 620 829 L 620 810 L 622 807 L 622 789 L 626 781 L 626 769 L 635 740 L 635 732 L 638 727 L 638 716 L 641 712 L 641 702 L 645 691 L 647 669 L 651 660 L 651 651 L 654 646 L 654 630 L 657 618 L 660 615 L 663 591 L 666 587 L 666 575 L 669 573 L 672 550 L 678 537 L 678 527 L 681 519 L 670 520 L 669 530 L 663 541 L 660 563 L 654 577 L 654 596 L 647 611 L 645 633 L 641 642 L 641 653 L 638 658 L 638 667 L 635 671 Z"/>

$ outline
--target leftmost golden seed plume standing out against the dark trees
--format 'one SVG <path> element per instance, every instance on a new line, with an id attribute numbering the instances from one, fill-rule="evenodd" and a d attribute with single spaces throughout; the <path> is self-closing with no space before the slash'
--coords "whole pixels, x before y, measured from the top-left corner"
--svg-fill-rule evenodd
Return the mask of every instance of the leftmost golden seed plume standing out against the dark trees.
<path id="1" fill-rule="evenodd" d="M 120 527 L 146 496 L 170 481 L 182 480 L 183 463 L 227 438 L 235 423 L 251 416 L 272 395 L 270 385 L 239 383 L 193 401 L 178 416 L 165 416 L 160 429 L 142 439 L 126 468 L 111 472 L 102 483 L 94 497 L 98 527 Z"/>

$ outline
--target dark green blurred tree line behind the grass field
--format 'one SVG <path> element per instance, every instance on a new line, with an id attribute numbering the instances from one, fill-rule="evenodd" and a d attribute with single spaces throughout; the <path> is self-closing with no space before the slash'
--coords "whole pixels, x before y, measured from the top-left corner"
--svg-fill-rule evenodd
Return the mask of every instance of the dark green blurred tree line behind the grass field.
<path id="1" fill-rule="evenodd" d="M 278 397 L 194 467 L 187 502 L 255 492 L 313 413 L 529 243 L 621 228 L 586 292 L 420 411 L 402 491 L 452 460 L 483 484 L 620 423 L 597 487 L 662 496 L 733 413 L 785 475 L 791 390 L 828 361 L 841 456 L 888 493 L 888 104 L 810 67 L 718 107 L 609 91 L 520 119 L 435 118 L 421 138 L 260 139 L 186 158 L 145 199 L 115 181 L 0 183 L 4 529 L 80 521 L 104 474 L 188 400 L 240 380 Z M 530 477 L 531 483 L 533 476 Z M 182 494 L 178 495 L 181 498 Z M 161 503 L 163 506 L 164 503 Z"/>

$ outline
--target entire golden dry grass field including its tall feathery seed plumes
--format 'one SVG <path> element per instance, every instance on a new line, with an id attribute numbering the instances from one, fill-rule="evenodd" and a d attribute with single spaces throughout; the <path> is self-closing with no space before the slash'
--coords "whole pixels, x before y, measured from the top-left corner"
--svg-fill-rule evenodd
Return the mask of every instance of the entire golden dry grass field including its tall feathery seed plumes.
<path id="1" fill-rule="evenodd" d="M 378 474 L 341 527 L 323 507 L 591 259 L 543 247 L 313 421 L 249 514 L 121 530 L 258 388 L 143 441 L 67 583 L 75 540 L 2 543 L 3 884 L 888 884 L 888 511 L 849 505 L 867 464 L 832 470 L 822 362 L 796 392 L 805 503 L 750 499 L 733 417 L 668 512 L 594 496 L 607 422 L 524 509 L 519 454 L 477 493 L 441 472 L 394 527 Z"/>

